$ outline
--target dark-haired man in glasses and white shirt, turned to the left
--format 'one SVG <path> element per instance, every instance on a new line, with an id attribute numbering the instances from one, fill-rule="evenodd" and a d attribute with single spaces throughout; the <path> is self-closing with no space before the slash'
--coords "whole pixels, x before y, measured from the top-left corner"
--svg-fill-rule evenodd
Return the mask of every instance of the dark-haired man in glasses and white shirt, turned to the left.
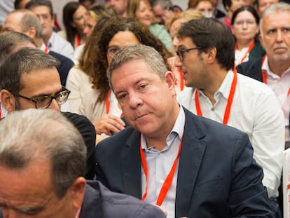
<path id="1" fill-rule="evenodd" d="M 206 18 L 184 24 L 178 32 L 175 60 L 186 86 L 178 100 L 187 109 L 247 132 L 254 158 L 264 172 L 273 211 L 279 214 L 278 187 L 284 151 L 284 118 L 268 86 L 233 71 L 235 41 L 219 20 Z"/>

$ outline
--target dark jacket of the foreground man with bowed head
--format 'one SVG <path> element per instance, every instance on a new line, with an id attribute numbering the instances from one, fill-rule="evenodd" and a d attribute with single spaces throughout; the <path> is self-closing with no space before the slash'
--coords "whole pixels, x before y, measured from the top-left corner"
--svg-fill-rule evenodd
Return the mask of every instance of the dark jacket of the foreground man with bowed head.
<path id="1" fill-rule="evenodd" d="M 80 218 L 165 218 L 156 206 L 115 193 L 98 181 L 88 181 Z"/>

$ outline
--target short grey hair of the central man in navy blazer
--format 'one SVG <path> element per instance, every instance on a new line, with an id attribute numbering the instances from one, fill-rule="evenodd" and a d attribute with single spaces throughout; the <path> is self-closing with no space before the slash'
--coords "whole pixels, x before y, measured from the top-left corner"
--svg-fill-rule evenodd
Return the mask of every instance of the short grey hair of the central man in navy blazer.
<path id="1" fill-rule="evenodd" d="M 131 60 L 144 60 L 149 69 L 151 69 L 153 73 L 157 74 L 162 80 L 165 78 L 165 73 L 168 71 L 163 57 L 153 47 L 142 44 L 127 46 L 113 57 L 111 64 L 106 70 L 109 85 L 112 89 L 112 72 Z"/>

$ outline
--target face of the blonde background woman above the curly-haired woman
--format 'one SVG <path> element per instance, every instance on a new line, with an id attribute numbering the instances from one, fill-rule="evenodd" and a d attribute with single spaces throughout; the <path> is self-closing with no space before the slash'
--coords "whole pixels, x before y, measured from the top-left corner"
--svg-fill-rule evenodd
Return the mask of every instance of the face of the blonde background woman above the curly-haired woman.
<path id="1" fill-rule="evenodd" d="M 151 5 L 146 0 L 141 0 L 139 8 L 135 13 L 136 18 L 146 26 L 150 26 L 153 18 Z"/>

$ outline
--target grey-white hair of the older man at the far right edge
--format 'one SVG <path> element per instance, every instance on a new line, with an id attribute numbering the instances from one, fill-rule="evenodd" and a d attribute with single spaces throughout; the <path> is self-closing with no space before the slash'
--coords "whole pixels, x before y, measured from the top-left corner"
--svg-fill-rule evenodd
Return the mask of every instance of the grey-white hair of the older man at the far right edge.
<path id="1" fill-rule="evenodd" d="M 279 12 L 282 11 L 286 11 L 290 13 L 290 4 L 286 3 L 286 2 L 279 2 L 276 4 L 271 4 L 270 6 L 268 6 L 268 8 L 265 8 L 265 10 L 263 11 L 262 15 L 261 15 L 261 19 L 260 19 L 260 25 L 259 25 L 259 29 L 260 29 L 260 33 L 263 36 L 263 21 L 266 17 L 268 17 L 269 15 L 272 14 L 278 14 Z"/>

